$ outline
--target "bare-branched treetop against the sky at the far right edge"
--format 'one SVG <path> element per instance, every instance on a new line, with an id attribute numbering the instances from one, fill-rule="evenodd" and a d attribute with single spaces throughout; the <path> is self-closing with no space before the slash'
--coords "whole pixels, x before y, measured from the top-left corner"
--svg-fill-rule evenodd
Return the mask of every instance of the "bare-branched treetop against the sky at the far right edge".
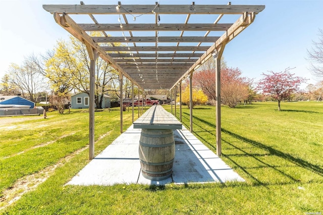
<path id="1" fill-rule="evenodd" d="M 307 49 L 307 54 L 312 74 L 323 77 L 323 30 L 318 29 L 318 31 L 318 41 L 312 41 L 313 46 Z"/>

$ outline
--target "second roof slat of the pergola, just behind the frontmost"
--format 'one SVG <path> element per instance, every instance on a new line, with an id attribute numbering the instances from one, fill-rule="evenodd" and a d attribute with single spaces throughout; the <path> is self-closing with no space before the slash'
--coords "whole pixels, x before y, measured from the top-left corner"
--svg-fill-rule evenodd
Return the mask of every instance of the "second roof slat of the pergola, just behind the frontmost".
<path id="1" fill-rule="evenodd" d="M 232 24 L 78 24 L 84 31 L 226 31 Z"/>

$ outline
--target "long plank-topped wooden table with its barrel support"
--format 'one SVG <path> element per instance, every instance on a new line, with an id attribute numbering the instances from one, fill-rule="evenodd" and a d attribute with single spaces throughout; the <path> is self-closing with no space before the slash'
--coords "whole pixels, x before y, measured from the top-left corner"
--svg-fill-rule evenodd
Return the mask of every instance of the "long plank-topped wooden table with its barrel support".
<path id="1" fill-rule="evenodd" d="M 160 105 L 153 105 L 133 123 L 141 129 L 139 159 L 143 177 L 164 180 L 172 175 L 175 158 L 173 129 L 182 124 Z"/>

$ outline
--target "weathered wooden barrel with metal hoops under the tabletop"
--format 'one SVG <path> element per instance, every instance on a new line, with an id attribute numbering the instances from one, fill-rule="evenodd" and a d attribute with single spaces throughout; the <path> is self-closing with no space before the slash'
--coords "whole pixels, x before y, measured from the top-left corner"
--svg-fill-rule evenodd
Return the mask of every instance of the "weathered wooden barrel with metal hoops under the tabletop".
<path id="1" fill-rule="evenodd" d="M 172 175 L 175 141 L 171 129 L 141 129 L 139 159 L 143 177 L 164 180 Z"/>

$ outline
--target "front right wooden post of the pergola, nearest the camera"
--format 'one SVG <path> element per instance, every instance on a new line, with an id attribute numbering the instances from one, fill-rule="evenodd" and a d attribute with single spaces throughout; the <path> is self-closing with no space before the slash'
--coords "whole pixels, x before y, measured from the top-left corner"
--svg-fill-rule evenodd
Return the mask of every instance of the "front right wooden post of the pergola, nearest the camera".
<path id="1" fill-rule="evenodd" d="M 214 52 L 213 58 L 216 60 L 216 138 L 217 138 L 217 155 L 222 154 L 221 148 L 221 56 L 225 44 Z"/>

